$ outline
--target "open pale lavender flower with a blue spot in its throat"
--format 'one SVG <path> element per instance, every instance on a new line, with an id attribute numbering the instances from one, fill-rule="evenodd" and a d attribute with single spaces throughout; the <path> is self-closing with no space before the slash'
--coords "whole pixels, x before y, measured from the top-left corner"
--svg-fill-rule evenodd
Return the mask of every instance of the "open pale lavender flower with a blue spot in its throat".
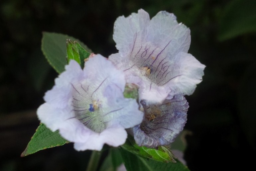
<path id="1" fill-rule="evenodd" d="M 136 100 L 124 98 L 124 88 L 124 73 L 103 56 L 89 58 L 83 70 L 71 60 L 37 114 L 76 150 L 101 150 L 105 143 L 116 147 L 127 138 L 125 128 L 143 120 Z"/>

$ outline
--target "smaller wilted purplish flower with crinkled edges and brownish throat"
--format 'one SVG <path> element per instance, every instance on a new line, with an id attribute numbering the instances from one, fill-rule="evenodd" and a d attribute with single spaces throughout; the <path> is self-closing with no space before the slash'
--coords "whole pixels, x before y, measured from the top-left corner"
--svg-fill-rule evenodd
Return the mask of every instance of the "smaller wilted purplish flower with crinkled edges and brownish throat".
<path id="1" fill-rule="evenodd" d="M 141 103 L 145 113 L 144 120 L 130 129 L 136 143 L 151 148 L 169 145 L 186 124 L 189 105 L 185 97 L 175 95 L 161 105 L 146 105 L 144 101 Z"/>

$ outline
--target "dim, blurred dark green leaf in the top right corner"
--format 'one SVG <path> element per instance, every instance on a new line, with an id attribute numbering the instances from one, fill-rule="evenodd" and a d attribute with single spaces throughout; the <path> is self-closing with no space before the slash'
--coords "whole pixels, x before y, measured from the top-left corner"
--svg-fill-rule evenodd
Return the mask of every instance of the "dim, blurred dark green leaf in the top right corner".
<path id="1" fill-rule="evenodd" d="M 255 0 L 230 1 L 220 19 L 218 39 L 224 41 L 243 34 L 256 32 Z"/>

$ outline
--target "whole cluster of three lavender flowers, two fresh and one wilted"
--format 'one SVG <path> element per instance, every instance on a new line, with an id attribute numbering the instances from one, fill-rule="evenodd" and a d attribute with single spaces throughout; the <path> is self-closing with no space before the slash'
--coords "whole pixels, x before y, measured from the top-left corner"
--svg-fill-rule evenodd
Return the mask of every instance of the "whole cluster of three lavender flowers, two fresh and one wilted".
<path id="1" fill-rule="evenodd" d="M 59 130 L 76 150 L 101 150 L 125 143 L 127 132 L 138 145 L 168 145 L 187 121 L 188 102 L 202 81 L 204 65 L 187 53 L 190 30 L 160 11 L 150 20 L 144 10 L 118 17 L 113 39 L 118 53 L 90 57 L 81 69 L 71 60 L 47 91 L 37 115 Z M 138 99 L 125 98 L 126 85 Z"/>

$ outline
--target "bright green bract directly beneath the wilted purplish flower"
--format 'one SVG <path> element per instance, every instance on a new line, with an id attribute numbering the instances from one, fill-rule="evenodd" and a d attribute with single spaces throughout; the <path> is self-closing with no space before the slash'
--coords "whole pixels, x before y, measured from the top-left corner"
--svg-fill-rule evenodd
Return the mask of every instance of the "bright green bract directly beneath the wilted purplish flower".
<path id="1" fill-rule="evenodd" d="M 154 160 L 163 162 L 176 162 L 176 157 L 169 147 L 159 146 L 158 149 L 148 148 L 145 146 L 140 147 L 135 143 L 132 136 L 128 136 L 126 143 L 121 147 L 142 157 L 152 158 Z"/>

